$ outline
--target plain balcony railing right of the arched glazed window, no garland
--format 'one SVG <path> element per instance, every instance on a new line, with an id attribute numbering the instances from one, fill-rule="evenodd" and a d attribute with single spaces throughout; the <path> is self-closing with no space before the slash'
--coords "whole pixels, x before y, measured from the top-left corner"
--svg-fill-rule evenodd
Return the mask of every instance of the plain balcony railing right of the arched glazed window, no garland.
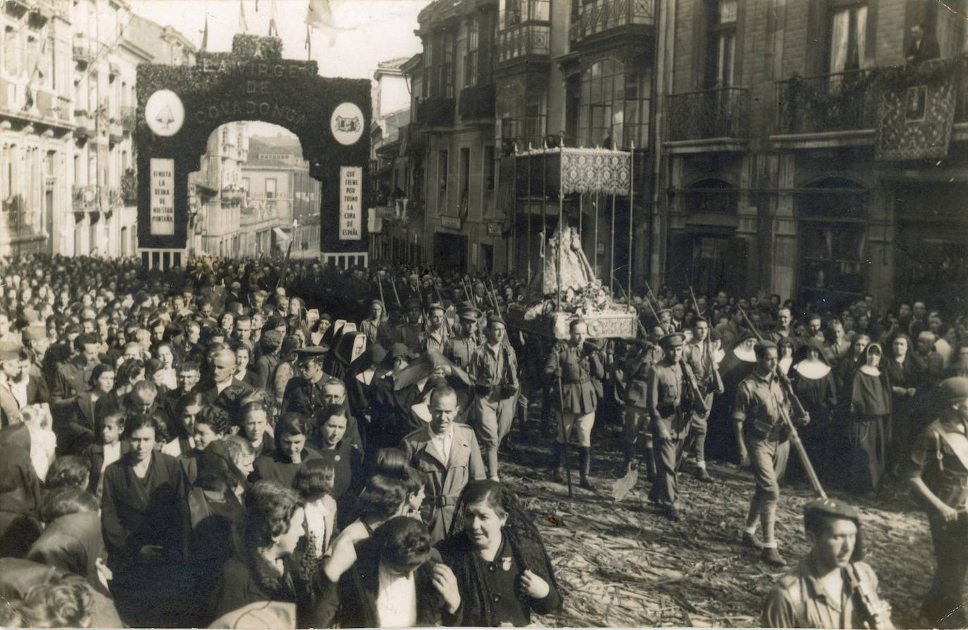
<path id="1" fill-rule="evenodd" d="M 669 140 L 747 137 L 749 90 L 724 87 L 667 97 Z"/>

